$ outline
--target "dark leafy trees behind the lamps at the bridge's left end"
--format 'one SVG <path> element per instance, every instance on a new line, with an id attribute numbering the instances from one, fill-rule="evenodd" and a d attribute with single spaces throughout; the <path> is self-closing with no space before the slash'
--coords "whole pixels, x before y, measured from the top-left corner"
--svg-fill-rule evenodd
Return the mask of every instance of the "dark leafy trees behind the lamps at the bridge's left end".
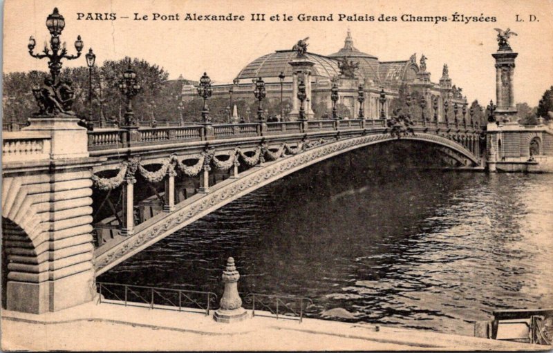
<path id="1" fill-rule="evenodd" d="M 120 75 L 129 65 L 135 70 L 138 83 L 142 86 L 142 92 L 133 100 L 133 108 L 138 119 L 150 122 L 153 106 L 155 106 L 156 120 L 178 121 L 178 103 L 182 84 L 195 84 L 195 82 L 185 79 L 168 82 L 169 73 L 160 66 L 130 57 L 106 60 L 102 66 L 93 68 L 93 121 L 99 120 L 100 96 L 103 100 L 104 116 L 119 120 L 120 111 L 124 113 L 124 97 L 119 91 L 118 82 Z M 49 73 L 41 71 L 3 75 L 4 120 L 26 122 L 28 117 L 37 111 L 31 88 L 41 86 L 44 77 L 48 75 Z M 75 91 L 73 111 L 77 117 L 88 117 L 88 67 L 64 68 L 60 77 L 70 77 L 73 80 Z"/>

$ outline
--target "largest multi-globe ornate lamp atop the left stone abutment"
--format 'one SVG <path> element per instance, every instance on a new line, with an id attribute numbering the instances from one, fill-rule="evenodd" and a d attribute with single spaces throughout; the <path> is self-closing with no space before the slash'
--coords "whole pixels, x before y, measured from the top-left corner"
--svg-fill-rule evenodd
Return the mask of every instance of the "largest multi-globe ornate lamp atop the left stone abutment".
<path id="1" fill-rule="evenodd" d="M 62 59 L 77 59 L 77 57 L 81 56 L 81 50 L 83 47 L 81 36 L 77 35 L 77 40 L 75 41 L 75 49 L 77 50 L 77 55 L 67 55 L 65 44 L 63 45 L 62 50 L 59 50 L 59 46 L 61 44 L 59 36 L 62 35 L 64 27 L 64 17 L 62 15 L 59 15 L 57 8 L 54 8 L 54 11 L 46 18 L 46 28 L 48 28 L 51 36 L 50 50 L 48 49 L 48 46 L 44 44 L 44 54 L 33 53 L 37 42 L 32 36 L 29 38 L 29 44 L 27 45 L 30 56 L 36 57 L 37 59 L 43 59 L 44 57 L 48 58 L 48 68 L 50 68 L 50 75 L 52 75 L 53 85 L 57 84 L 59 72 L 60 70 L 62 70 Z"/>

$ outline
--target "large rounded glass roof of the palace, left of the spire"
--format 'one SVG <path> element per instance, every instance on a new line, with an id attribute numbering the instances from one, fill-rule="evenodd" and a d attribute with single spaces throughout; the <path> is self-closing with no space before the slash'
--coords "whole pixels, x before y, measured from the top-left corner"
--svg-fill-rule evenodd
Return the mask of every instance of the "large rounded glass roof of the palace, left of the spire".
<path id="1" fill-rule="evenodd" d="M 279 77 L 280 73 L 284 73 L 285 77 L 292 77 L 292 66 L 288 63 L 296 56 L 295 50 L 277 50 L 275 53 L 263 55 L 247 64 L 238 74 L 238 79 L 254 77 L 265 79 Z M 332 78 L 340 74 L 337 61 L 315 53 L 306 53 L 306 56 L 310 61 L 315 62 L 312 68 L 313 76 Z"/>

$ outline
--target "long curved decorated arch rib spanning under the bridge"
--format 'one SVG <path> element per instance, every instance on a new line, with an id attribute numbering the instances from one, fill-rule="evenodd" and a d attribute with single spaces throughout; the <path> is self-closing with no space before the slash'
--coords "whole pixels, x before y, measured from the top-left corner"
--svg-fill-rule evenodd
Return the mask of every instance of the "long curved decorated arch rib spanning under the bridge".
<path id="1" fill-rule="evenodd" d="M 243 195 L 247 195 L 247 193 L 251 193 L 275 180 L 283 178 L 285 175 L 348 151 L 361 149 L 372 144 L 397 140 L 429 142 L 445 147 L 453 153 L 460 155 L 460 160 L 464 160 L 464 164 L 467 166 L 469 164 L 474 166 L 478 164 L 477 158 L 465 147 L 448 140 L 446 137 L 427 133 L 405 135 L 400 139 L 389 134 L 381 134 L 323 142 L 301 153 L 286 155 L 283 158 L 272 162 L 265 162 L 263 165 L 248 169 L 236 179 L 228 179 L 211 187 L 209 193 L 200 195 L 197 198 L 191 198 L 189 201 L 181 202 L 181 204 L 176 205 L 176 210 L 172 213 L 158 213 L 158 215 L 142 222 L 135 227 L 135 233 L 132 236 L 128 236 L 124 241 L 111 249 L 102 250 L 95 256 L 95 274 L 96 276 L 100 276 L 105 271 L 138 254 L 138 252 L 169 236 L 178 229 L 191 224 L 229 202 L 241 198 Z"/>

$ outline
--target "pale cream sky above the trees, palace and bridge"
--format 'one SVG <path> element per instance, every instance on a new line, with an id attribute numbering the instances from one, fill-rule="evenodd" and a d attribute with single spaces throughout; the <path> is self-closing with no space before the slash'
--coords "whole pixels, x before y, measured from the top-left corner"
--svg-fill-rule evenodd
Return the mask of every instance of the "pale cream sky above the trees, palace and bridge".
<path id="1" fill-rule="evenodd" d="M 491 57 L 498 48 L 494 28 L 511 28 L 518 34 L 509 40 L 518 53 L 515 101 L 535 106 L 553 85 L 553 0 L 6 0 L 4 73 L 47 69 L 46 59 L 30 57 L 27 44 L 29 36 L 34 36 L 36 52 L 50 39 L 45 21 L 55 6 L 65 17 L 61 39 L 67 42 L 69 53 L 75 52 L 73 43 L 81 35 L 83 54 L 93 48 L 97 63 L 140 57 L 165 68 L 170 79 L 182 74 L 197 80 L 206 71 L 214 82 L 231 82 L 250 61 L 290 49 L 305 37 L 309 37 L 310 52 L 328 55 L 344 45 L 349 28 L 355 47 L 381 61 L 406 60 L 413 53 L 419 59 L 424 53 L 433 82 L 438 82 L 443 64 L 448 64 L 453 84 L 463 88 L 469 102 L 478 99 L 483 104 L 496 100 Z M 88 12 L 94 18 L 96 13 L 102 17 L 113 13 L 116 19 L 86 20 Z M 79 13 L 83 19 L 78 19 Z M 148 19 L 135 20 L 135 13 Z M 180 18 L 153 21 L 154 13 L 179 14 Z M 243 15 L 245 21 L 185 21 L 187 13 L 231 13 Z M 252 13 L 265 13 L 265 21 L 251 21 Z M 283 14 L 292 20 L 283 21 Z M 327 19 L 332 14 L 333 21 L 300 21 L 301 14 Z M 375 20 L 339 21 L 339 14 L 374 16 Z M 468 23 L 452 21 L 455 14 L 458 19 L 461 15 L 471 19 Z M 273 15 L 279 15 L 279 21 L 270 21 Z M 378 21 L 380 15 L 389 21 Z M 402 21 L 403 15 L 445 17 L 447 21 Z M 64 61 L 64 67 L 85 65 L 84 55 Z"/>

